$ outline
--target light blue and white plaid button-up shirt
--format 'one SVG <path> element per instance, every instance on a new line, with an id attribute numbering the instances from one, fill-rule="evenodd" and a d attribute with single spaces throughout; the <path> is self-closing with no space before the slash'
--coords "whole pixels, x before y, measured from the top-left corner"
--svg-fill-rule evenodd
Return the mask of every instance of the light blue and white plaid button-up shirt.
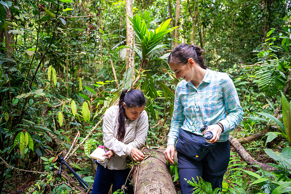
<path id="1" fill-rule="evenodd" d="M 229 132 L 242 121 L 243 114 L 235 85 L 228 74 L 207 69 L 197 89 L 190 81 L 178 83 L 167 145 L 175 145 L 180 129 L 202 136 L 200 128 L 203 125 L 217 122 L 224 127 L 218 142 L 224 142 L 228 140 Z"/>

